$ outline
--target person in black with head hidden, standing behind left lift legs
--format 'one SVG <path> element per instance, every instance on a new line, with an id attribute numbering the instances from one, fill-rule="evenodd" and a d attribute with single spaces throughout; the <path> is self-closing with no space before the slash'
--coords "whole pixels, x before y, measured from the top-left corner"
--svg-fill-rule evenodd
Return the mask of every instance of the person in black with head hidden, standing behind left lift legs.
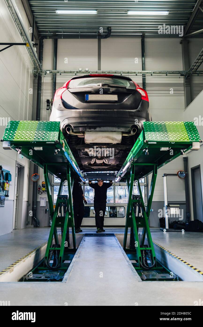
<path id="1" fill-rule="evenodd" d="M 80 226 L 82 223 L 82 219 L 85 213 L 85 207 L 83 200 L 86 201 L 82 186 L 78 179 L 76 179 L 73 183 L 73 212 L 74 212 L 74 222 L 75 222 L 75 232 L 79 233 L 82 232 Z"/>

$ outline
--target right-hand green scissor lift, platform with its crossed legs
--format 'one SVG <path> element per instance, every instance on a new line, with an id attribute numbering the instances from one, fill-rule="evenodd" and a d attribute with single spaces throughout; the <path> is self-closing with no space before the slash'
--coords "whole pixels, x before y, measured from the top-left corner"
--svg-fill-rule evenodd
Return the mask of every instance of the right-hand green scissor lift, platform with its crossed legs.
<path id="1" fill-rule="evenodd" d="M 116 181 L 125 179 L 128 185 L 128 204 L 126 212 L 123 249 L 130 259 L 137 261 L 135 269 L 157 269 L 155 251 L 149 228 L 149 216 L 156 183 L 157 169 L 184 154 L 189 149 L 199 149 L 200 137 L 193 122 L 144 122 L 144 130 L 128 154 Z M 145 208 L 139 180 L 152 173 L 147 207 Z M 139 197 L 132 199 L 133 184 L 136 181 Z M 142 217 L 135 216 L 134 204 L 141 206 Z M 126 249 L 128 228 L 135 240 L 135 254 Z M 139 237 L 138 228 L 142 228 Z M 147 244 L 145 244 L 147 238 Z M 151 257 L 151 266 L 146 256 Z M 160 265 L 159 265 L 160 266 Z"/>

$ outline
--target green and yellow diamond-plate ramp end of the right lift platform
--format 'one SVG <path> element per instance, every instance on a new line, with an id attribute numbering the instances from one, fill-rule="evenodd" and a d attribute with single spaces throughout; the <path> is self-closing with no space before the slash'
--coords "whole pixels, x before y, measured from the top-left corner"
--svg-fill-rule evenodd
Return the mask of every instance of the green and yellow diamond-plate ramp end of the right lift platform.
<path id="1" fill-rule="evenodd" d="M 199 133 L 194 122 L 144 122 L 147 141 L 198 142 Z"/>

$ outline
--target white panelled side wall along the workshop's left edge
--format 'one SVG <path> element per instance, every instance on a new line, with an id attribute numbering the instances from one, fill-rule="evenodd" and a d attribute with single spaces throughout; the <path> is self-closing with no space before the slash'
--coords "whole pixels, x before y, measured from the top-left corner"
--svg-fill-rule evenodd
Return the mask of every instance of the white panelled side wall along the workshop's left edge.
<path id="1" fill-rule="evenodd" d="M 22 2 L 18 0 L 16 4 L 29 31 L 30 24 Z M 0 30 L 1 42 L 23 42 L 5 1 L 1 1 L 0 5 Z M 0 47 L 2 49 L 5 46 L 0 45 Z M 15 45 L 0 52 L 0 117 L 7 117 L 10 120 L 32 119 L 33 94 L 29 93 L 29 89 L 33 88 L 32 69 L 33 63 L 25 46 Z M 1 138 L 4 129 L 5 126 L 0 126 Z M 5 201 L 5 207 L 0 208 L 0 234 L 12 231 L 16 161 L 25 166 L 23 206 L 26 207 L 28 201 L 29 161 L 20 158 L 15 151 L 3 150 L 2 143 L 0 143 L 0 164 L 3 168 L 10 170 L 12 175 L 9 198 Z M 22 228 L 26 226 L 26 220 L 27 213 L 24 211 Z"/>

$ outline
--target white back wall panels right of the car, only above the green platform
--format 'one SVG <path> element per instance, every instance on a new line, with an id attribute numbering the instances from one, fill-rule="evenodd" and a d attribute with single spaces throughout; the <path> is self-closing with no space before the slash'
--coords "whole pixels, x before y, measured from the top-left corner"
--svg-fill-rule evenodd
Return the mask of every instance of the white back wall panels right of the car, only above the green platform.
<path id="1" fill-rule="evenodd" d="M 182 70 L 180 40 L 145 38 L 145 62 L 146 70 Z M 146 89 L 150 100 L 152 120 L 182 120 L 183 109 L 185 109 L 182 78 L 147 77 Z"/>

